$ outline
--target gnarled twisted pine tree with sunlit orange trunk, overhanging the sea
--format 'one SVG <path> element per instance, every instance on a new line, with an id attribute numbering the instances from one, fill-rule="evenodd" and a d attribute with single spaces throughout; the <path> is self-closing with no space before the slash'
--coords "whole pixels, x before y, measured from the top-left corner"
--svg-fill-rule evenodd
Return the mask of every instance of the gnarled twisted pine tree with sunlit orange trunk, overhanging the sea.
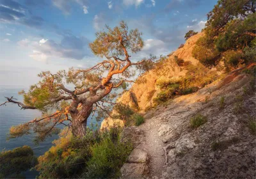
<path id="1" fill-rule="evenodd" d="M 102 62 L 88 69 L 70 68 L 68 72 L 61 70 L 56 74 L 42 72 L 38 75 L 41 80 L 37 84 L 28 92 L 20 92 L 24 102 L 6 97 L 7 101 L 1 105 L 13 103 L 21 109 L 43 112 L 42 118 L 12 127 L 10 137 L 28 134 L 33 127 L 38 139 L 42 140 L 56 132 L 58 124 L 67 125 L 74 136 L 84 136 L 88 117 L 95 110 L 106 111 L 104 103 L 109 102 L 109 93 L 122 86 L 123 82 L 132 82 L 127 80 L 134 75 L 129 67 L 143 63 L 143 60 L 132 63 L 130 59 L 130 53 L 143 48 L 141 35 L 138 29 L 129 31 L 124 21 L 113 29 L 106 26 L 106 31 L 96 33 L 95 41 L 90 43 L 92 52 L 105 58 Z M 65 83 L 72 84 L 74 89 L 68 89 Z"/>

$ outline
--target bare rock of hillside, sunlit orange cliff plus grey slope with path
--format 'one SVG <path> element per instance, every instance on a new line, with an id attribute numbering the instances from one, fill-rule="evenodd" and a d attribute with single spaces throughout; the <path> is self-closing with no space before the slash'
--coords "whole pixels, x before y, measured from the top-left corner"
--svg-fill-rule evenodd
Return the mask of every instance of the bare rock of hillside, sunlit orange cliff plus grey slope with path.
<path id="1" fill-rule="evenodd" d="M 124 129 L 123 139 L 131 140 L 135 149 L 121 169 L 122 178 L 256 177 L 254 63 L 145 112 L 161 92 L 157 81 L 186 75 L 175 58 L 198 65 L 191 52 L 202 35 L 189 38 L 118 99 L 145 117 L 140 127 Z M 216 68 L 209 71 L 222 73 Z M 124 125 L 108 118 L 101 128 L 116 122 Z"/>

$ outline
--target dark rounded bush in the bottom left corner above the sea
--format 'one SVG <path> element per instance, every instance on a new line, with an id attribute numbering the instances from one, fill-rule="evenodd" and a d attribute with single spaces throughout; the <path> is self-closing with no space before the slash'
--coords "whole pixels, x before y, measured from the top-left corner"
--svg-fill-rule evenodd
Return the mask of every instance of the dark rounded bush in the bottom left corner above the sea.
<path id="1" fill-rule="evenodd" d="M 22 171 L 35 166 L 37 160 L 29 146 L 22 146 L 0 153 L 0 178 L 20 178 Z"/>

